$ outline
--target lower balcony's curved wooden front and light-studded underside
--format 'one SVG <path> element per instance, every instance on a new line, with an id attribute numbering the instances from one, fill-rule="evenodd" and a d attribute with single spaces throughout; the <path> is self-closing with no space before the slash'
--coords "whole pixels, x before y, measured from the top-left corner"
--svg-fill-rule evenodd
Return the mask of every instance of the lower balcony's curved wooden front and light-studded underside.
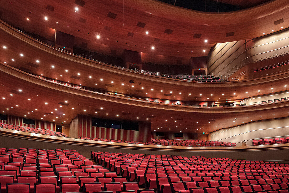
<path id="1" fill-rule="evenodd" d="M 289 115 L 289 100 L 234 108 L 155 104 L 60 85 L 5 64 L 0 65 L 0 82 L 0 112 L 57 123 L 69 123 L 76 115 L 83 114 L 151 122 L 153 131 L 210 133 Z"/>

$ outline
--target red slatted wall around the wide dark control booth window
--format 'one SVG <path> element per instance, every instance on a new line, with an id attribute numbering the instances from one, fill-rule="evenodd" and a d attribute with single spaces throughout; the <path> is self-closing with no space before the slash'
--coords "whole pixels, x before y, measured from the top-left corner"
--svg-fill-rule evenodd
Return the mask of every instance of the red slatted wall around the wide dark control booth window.
<path id="1" fill-rule="evenodd" d="M 151 141 L 151 124 L 139 123 L 138 131 L 112 129 L 92 126 L 92 117 L 78 115 L 79 137 L 92 137 L 101 139 L 115 139 L 127 141 Z"/>

